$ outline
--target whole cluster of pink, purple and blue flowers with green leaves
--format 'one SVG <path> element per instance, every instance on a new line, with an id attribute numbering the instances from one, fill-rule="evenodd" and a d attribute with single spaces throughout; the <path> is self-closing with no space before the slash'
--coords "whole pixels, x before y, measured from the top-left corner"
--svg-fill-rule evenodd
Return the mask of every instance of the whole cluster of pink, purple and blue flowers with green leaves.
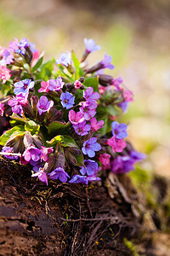
<path id="1" fill-rule="evenodd" d="M 31 177 L 47 185 L 48 179 L 87 185 L 100 180 L 102 171 L 129 172 L 144 159 L 125 141 L 127 125 L 115 120 L 133 101 L 132 91 L 124 89 L 121 77 L 104 73 L 115 68 L 111 55 L 84 65 L 100 49 L 94 39 L 84 44 L 81 61 L 67 51 L 43 64 L 26 38 L 0 49 L 0 115 L 10 115 L 1 154 L 31 166 Z"/>

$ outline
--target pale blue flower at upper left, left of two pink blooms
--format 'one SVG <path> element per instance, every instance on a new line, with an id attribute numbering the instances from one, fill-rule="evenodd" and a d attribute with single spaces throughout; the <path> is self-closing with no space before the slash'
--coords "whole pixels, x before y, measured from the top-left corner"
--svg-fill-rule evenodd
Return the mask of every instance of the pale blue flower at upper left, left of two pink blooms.
<path id="1" fill-rule="evenodd" d="M 21 93 L 23 96 L 25 96 L 26 93 L 34 87 L 34 84 L 35 82 L 31 81 L 31 79 L 24 79 L 20 82 L 17 82 L 14 84 L 14 94 L 18 95 Z"/>

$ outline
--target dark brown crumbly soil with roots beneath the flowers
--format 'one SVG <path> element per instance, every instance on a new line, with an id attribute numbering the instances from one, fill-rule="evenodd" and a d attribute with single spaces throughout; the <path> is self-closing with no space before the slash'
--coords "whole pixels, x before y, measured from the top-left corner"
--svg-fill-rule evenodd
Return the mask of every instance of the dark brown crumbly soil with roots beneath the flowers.
<path id="1" fill-rule="evenodd" d="M 1 158 L 0 167 L 0 255 L 156 255 L 129 177 L 47 187 L 26 166 Z M 142 244 L 137 254 L 124 237 Z"/>

